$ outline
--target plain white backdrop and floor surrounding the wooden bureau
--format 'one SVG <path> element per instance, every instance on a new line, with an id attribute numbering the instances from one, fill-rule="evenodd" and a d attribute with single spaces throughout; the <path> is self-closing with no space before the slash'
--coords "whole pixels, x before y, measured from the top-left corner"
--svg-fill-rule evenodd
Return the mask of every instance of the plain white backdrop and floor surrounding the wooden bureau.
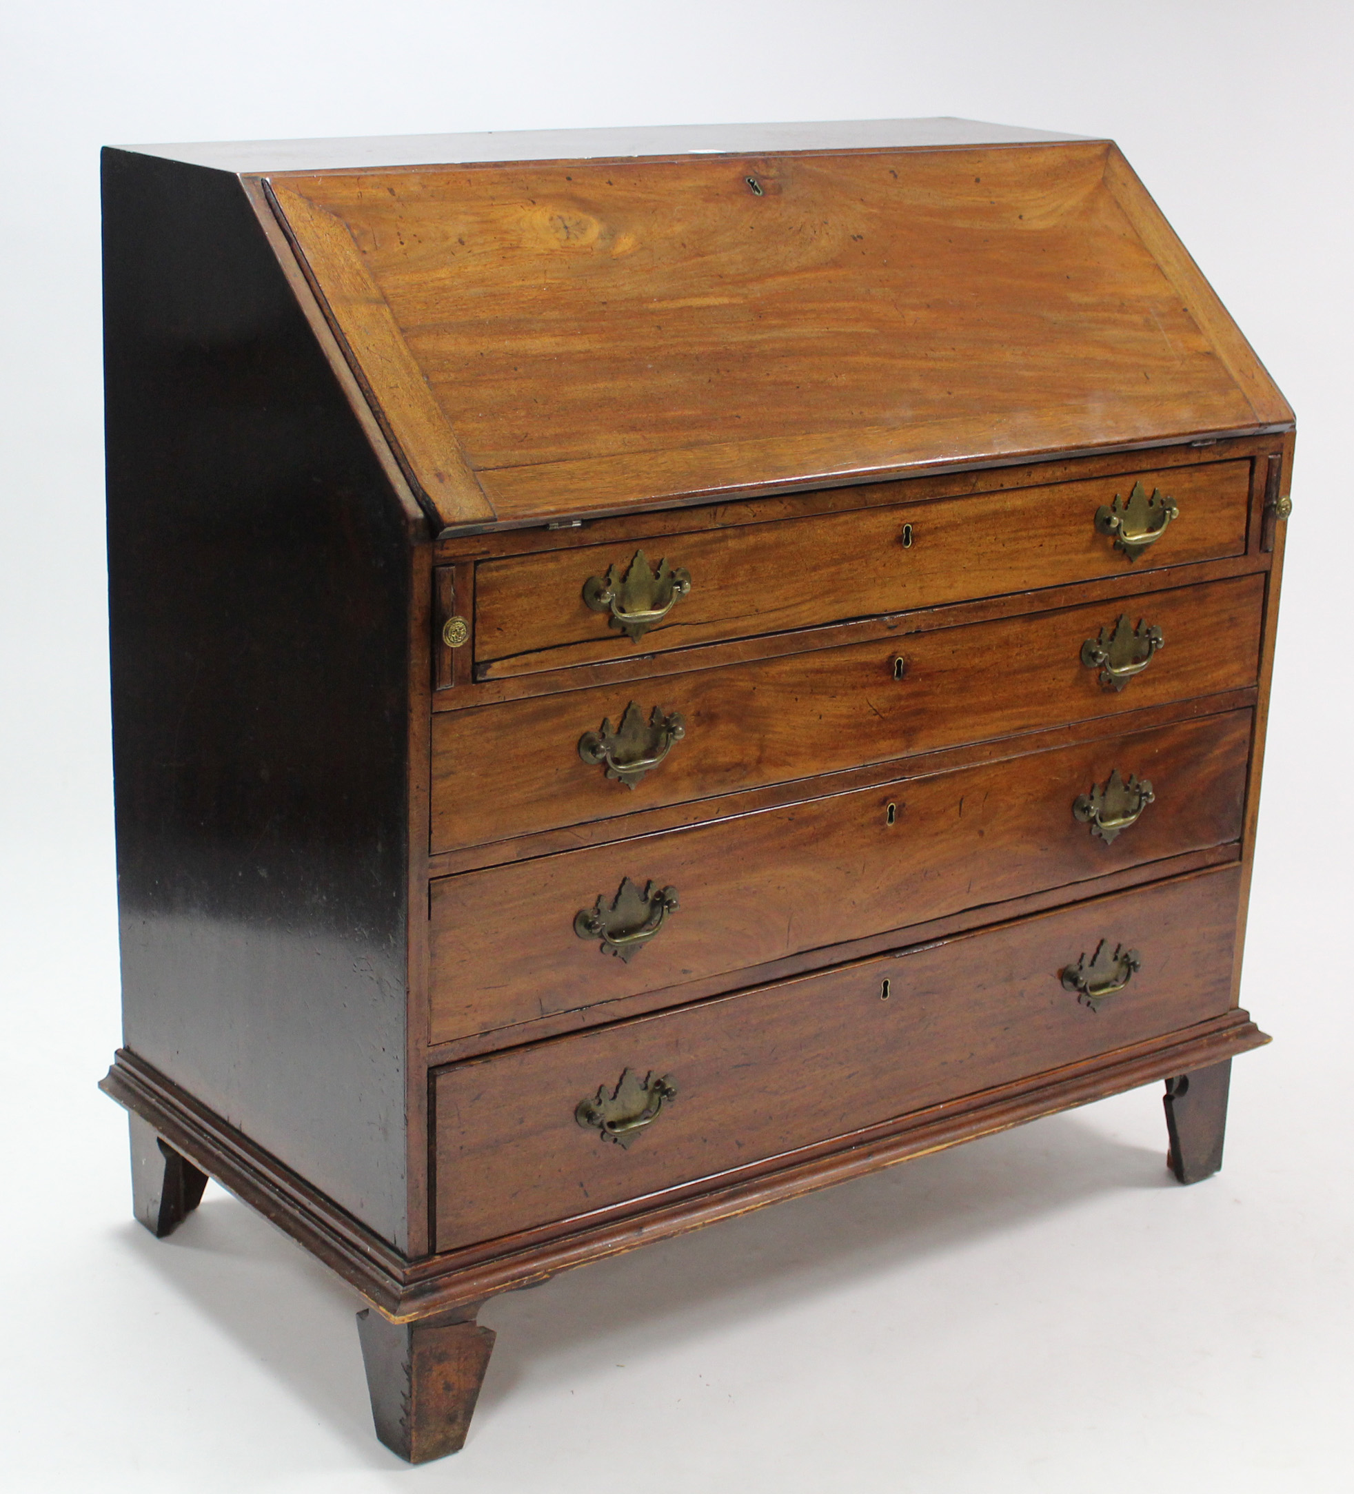
<path id="1" fill-rule="evenodd" d="M 10 0 L 0 24 L 0 1482 L 574 1494 L 1348 1490 L 1348 6 Z M 97 146 L 956 114 L 1110 134 L 1299 414 L 1224 1173 L 1157 1089 L 484 1312 L 471 1442 L 371 1434 L 351 1294 L 212 1188 L 129 1218 Z"/>

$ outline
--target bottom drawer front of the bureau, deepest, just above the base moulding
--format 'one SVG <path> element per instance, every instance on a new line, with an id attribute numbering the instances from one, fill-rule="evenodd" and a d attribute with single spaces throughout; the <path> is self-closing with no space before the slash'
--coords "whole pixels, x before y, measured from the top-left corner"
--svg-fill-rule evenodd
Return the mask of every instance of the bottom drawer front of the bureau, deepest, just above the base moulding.
<path id="1" fill-rule="evenodd" d="M 436 1247 L 584 1218 L 1221 1016 L 1239 886 L 1225 868 L 445 1068 Z M 1121 947 L 1139 965 L 1091 1005 L 1061 973 L 1101 940 L 1107 962 Z M 628 1070 L 676 1097 L 623 1146 L 575 1107 Z"/>

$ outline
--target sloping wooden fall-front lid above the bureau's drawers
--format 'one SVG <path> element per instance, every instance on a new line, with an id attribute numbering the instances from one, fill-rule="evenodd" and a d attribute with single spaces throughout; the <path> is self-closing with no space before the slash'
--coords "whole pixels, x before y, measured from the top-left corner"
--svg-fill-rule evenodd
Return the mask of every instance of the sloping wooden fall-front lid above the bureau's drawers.
<path id="1" fill-rule="evenodd" d="M 273 187 L 377 403 L 412 399 L 409 369 L 426 379 L 441 418 L 405 432 L 411 468 L 450 469 L 454 433 L 495 512 L 522 521 L 1257 429 L 1243 354 L 1215 347 L 1225 312 L 1193 314 L 1193 281 L 1154 257 L 1173 235 L 1143 218 L 1143 241 L 1106 184 L 1107 152 Z M 445 502 L 448 524 L 471 517 Z"/>

